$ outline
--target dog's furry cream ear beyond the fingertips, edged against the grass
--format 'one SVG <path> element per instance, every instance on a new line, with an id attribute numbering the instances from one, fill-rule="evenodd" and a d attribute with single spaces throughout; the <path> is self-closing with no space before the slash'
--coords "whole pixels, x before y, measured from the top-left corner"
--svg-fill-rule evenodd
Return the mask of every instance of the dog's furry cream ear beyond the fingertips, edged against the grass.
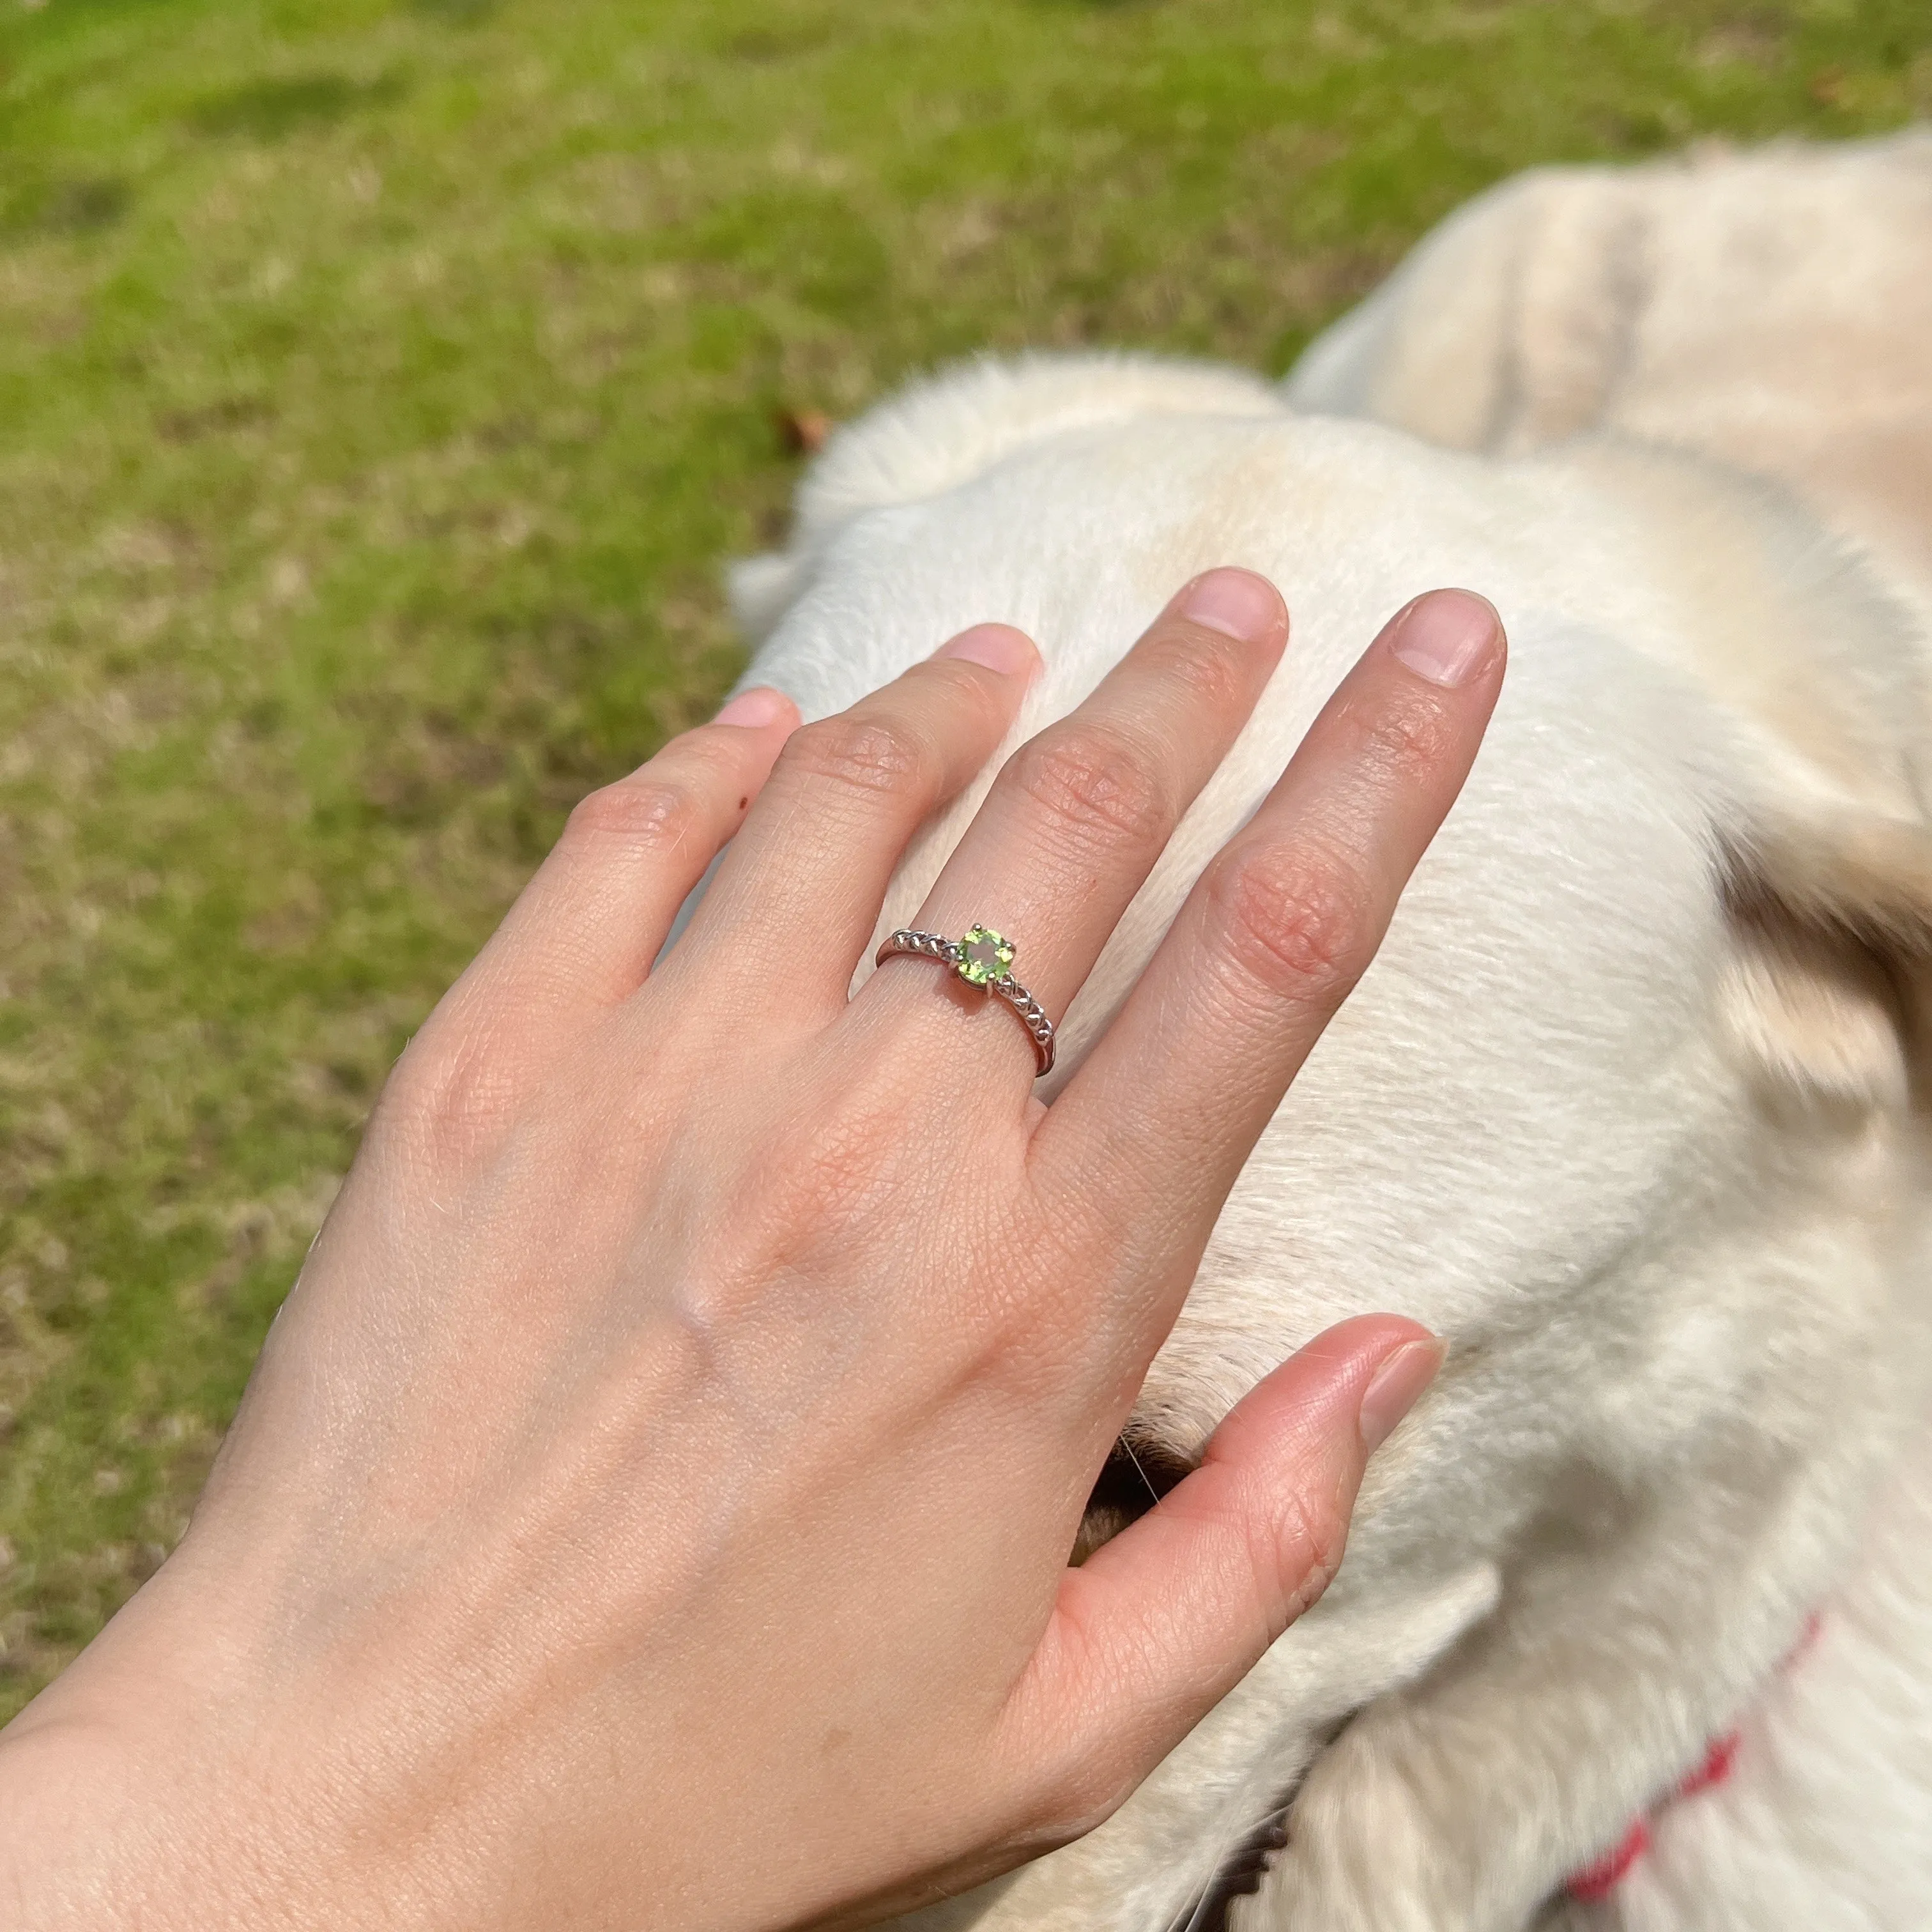
<path id="1" fill-rule="evenodd" d="M 854 516 L 956 489 L 1045 437 L 1142 415 L 1285 412 L 1260 377 L 1161 355 L 1034 354 L 962 363 L 833 431 L 798 489 L 790 543 L 726 572 L 732 618 L 746 641 L 761 643 Z"/>

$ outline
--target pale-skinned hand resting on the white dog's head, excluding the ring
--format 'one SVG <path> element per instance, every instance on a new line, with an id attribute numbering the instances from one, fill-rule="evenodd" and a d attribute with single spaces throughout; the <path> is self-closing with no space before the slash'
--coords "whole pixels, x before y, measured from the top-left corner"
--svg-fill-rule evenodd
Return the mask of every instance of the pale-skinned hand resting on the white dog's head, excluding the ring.
<path id="1" fill-rule="evenodd" d="M 1059 1018 L 1287 636 L 1260 578 L 1182 587 L 918 923 L 1020 939 Z M 1482 599 L 1406 607 L 1051 1107 L 945 968 L 848 995 L 1018 632 L 804 728 L 748 692 L 585 800 L 396 1066 L 187 1538 L 0 1733 L 0 1920 L 864 1922 L 1101 1820 L 1320 1594 L 1439 1362 L 1331 1329 L 1068 1567 L 1503 655 Z"/>

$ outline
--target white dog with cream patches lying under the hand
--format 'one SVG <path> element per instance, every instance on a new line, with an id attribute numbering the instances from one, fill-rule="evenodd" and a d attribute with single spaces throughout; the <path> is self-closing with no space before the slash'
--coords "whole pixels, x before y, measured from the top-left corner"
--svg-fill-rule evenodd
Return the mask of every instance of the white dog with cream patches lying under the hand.
<path id="1" fill-rule="evenodd" d="M 1922 1932 L 1932 137 L 1528 176 L 1283 390 L 952 373 L 734 589 L 808 717 L 1020 624 L 1030 734 L 1223 562 L 1289 657 L 1063 1066 L 1389 612 L 1482 589 L 1513 665 L 1128 1434 L 1186 1466 L 1360 1310 L 1449 1360 L 1323 1604 L 1109 1824 L 920 1924 Z"/>

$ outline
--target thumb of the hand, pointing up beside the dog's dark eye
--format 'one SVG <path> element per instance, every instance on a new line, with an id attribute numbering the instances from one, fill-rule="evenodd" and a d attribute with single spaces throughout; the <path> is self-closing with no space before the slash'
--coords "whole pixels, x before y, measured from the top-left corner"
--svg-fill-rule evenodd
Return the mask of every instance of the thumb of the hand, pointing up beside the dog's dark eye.
<path id="1" fill-rule="evenodd" d="M 1229 1410 L 1200 1468 L 1066 1571 L 1014 1718 L 1053 1739 L 1088 1824 L 1321 1596 L 1362 1470 L 1441 1356 L 1399 1316 L 1327 1329 Z"/>

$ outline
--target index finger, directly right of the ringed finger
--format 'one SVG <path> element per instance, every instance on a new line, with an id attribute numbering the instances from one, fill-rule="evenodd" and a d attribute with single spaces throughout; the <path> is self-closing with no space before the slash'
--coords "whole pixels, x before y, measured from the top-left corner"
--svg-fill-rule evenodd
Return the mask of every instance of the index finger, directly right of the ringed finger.
<path id="1" fill-rule="evenodd" d="M 1136 1223 L 1192 1242 L 1171 1256 L 1190 1264 L 1182 1283 L 1463 788 L 1505 655 L 1495 609 L 1468 591 L 1383 628 L 1034 1136 L 1051 1192 L 1097 1204 L 1130 1244 Z"/>

